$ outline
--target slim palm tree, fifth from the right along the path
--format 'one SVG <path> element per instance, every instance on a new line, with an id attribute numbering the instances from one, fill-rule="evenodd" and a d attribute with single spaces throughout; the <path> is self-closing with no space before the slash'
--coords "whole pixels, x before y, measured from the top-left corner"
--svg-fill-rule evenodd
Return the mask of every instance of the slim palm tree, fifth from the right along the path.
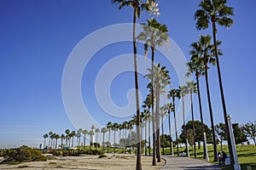
<path id="1" fill-rule="evenodd" d="M 183 127 L 184 127 L 184 133 L 185 133 L 185 144 L 186 144 L 186 150 L 187 150 L 187 156 L 189 156 L 189 148 L 188 148 L 188 138 L 187 138 L 187 133 L 186 133 L 186 123 L 185 123 L 185 102 L 184 102 L 184 97 L 189 94 L 188 87 L 187 86 L 179 86 L 178 87 L 180 96 L 183 101 Z"/>

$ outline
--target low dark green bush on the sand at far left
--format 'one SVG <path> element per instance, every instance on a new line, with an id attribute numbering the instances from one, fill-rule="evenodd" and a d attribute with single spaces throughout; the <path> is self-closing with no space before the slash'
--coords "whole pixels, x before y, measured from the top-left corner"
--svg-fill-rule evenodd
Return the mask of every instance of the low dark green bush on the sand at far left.
<path id="1" fill-rule="evenodd" d="M 5 150 L 3 162 L 11 161 L 46 161 L 46 157 L 42 156 L 42 151 L 38 149 L 32 149 L 26 145 L 20 146 L 20 148 Z"/>

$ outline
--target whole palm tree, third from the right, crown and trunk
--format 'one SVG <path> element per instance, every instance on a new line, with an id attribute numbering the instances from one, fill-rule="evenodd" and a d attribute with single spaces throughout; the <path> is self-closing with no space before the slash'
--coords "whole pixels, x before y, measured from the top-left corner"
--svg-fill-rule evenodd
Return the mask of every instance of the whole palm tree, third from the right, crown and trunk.
<path id="1" fill-rule="evenodd" d="M 199 82 L 199 77 L 201 77 L 203 73 L 203 65 L 200 60 L 199 54 L 200 52 L 198 51 L 190 51 L 190 54 L 192 56 L 192 59 L 187 63 L 187 66 L 189 67 L 189 71 L 187 72 L 186 76 L 191 76 L 193 72 L 195 72 L 195 79 L 196 79 L 196 88 L 197 88 L 197 96 L 198 96 L 198 104 L 199 104 L 199 111 L 200 111 L 200 117 L 201 117 L 201 136 L 203 136 L 203 150 L 204 150 L 204 159 L 207 158 L 207 144 L 205 139 L 205 127 L 204 127 L 204 119 L 203 119 L 203 114 L 202 114 L 202 108 L 201 108 L 201 93 L 200 93 L 200 82 Z M 193 59 L 194 58 L 194 59 Z"/>

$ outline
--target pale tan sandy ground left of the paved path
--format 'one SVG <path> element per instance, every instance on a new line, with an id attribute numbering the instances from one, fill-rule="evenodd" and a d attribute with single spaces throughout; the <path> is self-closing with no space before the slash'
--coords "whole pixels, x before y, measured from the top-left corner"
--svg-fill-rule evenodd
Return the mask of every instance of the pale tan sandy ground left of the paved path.
<path id="1" fill-rule="evenodd" d="M 55 156 L 55 160 L 25 162 L 18 165 L 0 164 L 0 169 L 24 170 L 53 170 L 53 169 L 83 169 L 83 170 L 134 170 L 136 169 L 136 156 L 113 155 L 98 158 L 98 156 Z M 0 158 L 1 160 L 1 158 Z M 162 160 L 158 166 L 151 166 L 152 157 L 143 156 L 143 169 L 156 170 L 164 166 Z"/>

